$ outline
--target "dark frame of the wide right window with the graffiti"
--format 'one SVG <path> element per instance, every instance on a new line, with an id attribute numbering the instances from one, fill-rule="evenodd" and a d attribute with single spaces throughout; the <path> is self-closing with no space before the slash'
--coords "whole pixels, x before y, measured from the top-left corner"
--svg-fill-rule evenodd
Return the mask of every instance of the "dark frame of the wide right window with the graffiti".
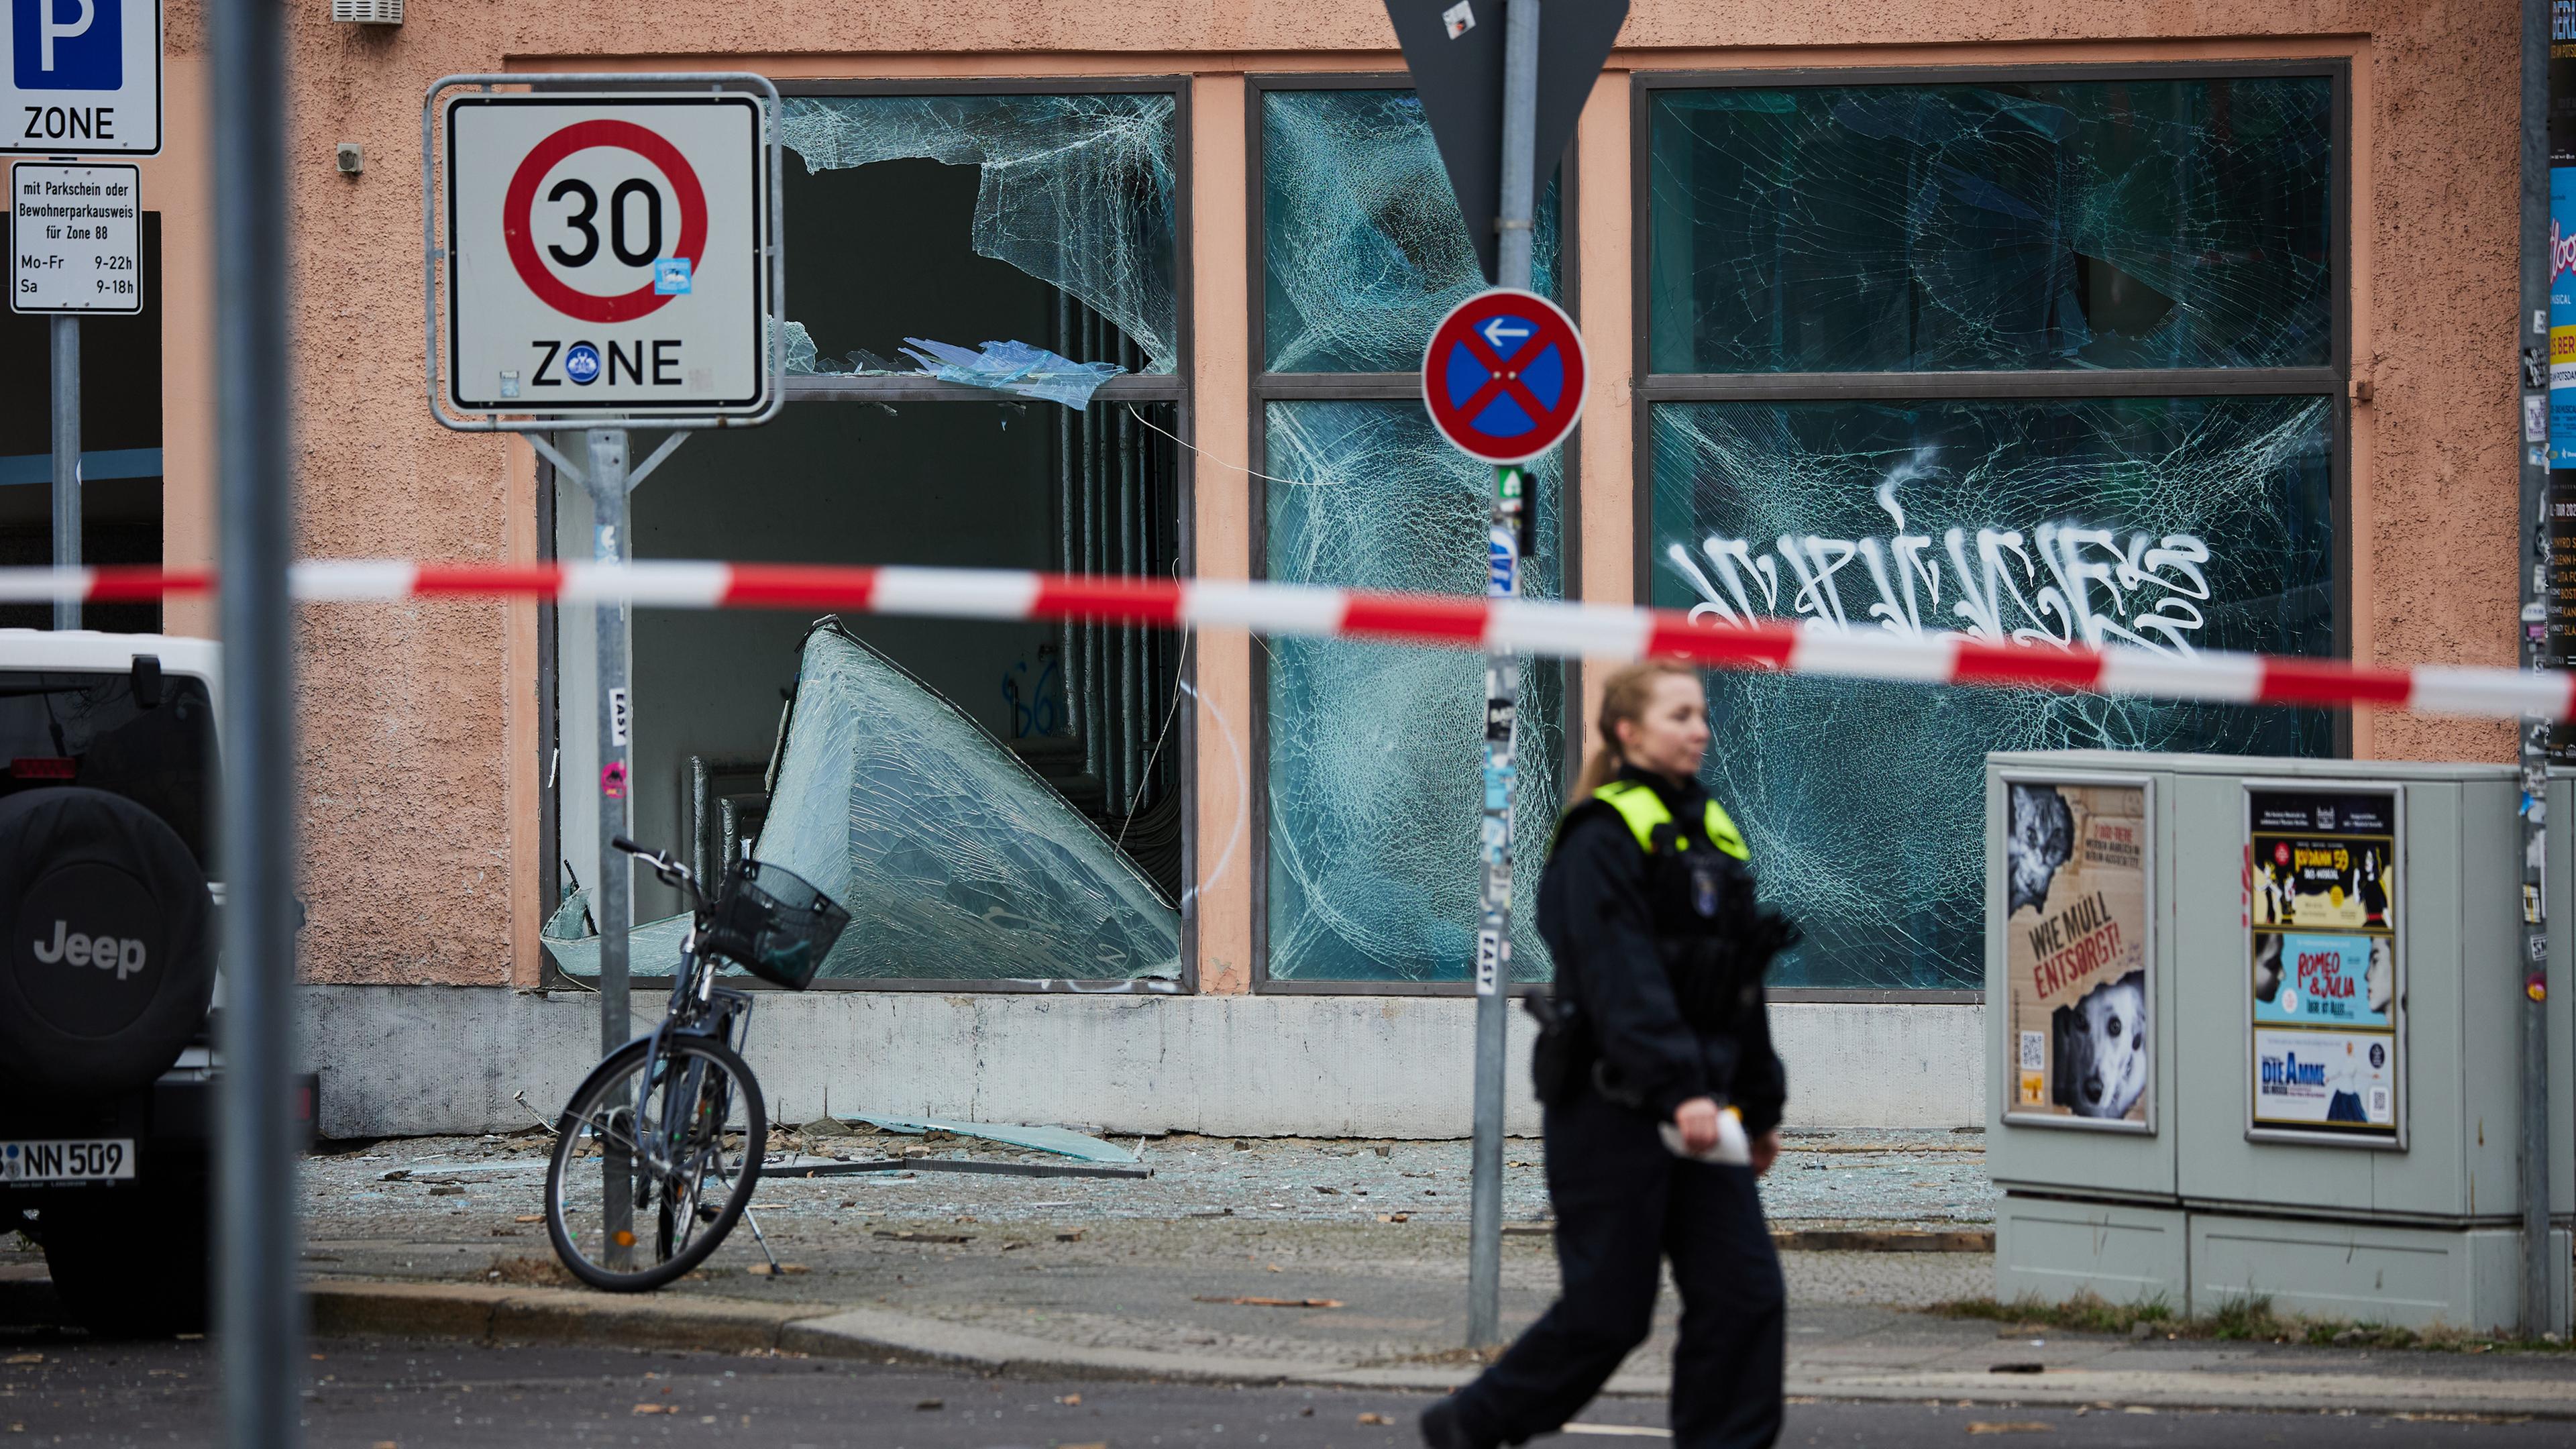
<path id="1" fill-rule="evenodd" d="M 1654 186 L 1651 126 L 1662 90 L 1795 90 L 1821 85 L 1994 85 L 2032 80 L 2254 80 L 2324 77 L 2331 83 L 2326 224 L 2331 333 L 2324 366 L 2262 369 L 2027 369 L 2027 371 L 1651 371 L 1654 361 Z M 1636 603 L 1654 603 L 1654 410 L 1664 402 L 1865 402 L 1865 400 L 2081 400 L 2081 397 L 2329 397 L 2329 534 L 2334 655 L 2352 657 L 2352 62 L 2208 59 L 2208 62 L 2076 62 L 1963 67 L 1783 67 L 1783 70 L 1638 70 L 1628 85 L 1628 294 L 1636 335 L 1631 369 L 1636 418 L 1636 516 L 1631 567 Z M 2334 758 L 2352 755 L 2352 712 L 2334 714 Z M 1775 1003 L 1973 1006 L 1976 987 L 1772 987 Z"/>

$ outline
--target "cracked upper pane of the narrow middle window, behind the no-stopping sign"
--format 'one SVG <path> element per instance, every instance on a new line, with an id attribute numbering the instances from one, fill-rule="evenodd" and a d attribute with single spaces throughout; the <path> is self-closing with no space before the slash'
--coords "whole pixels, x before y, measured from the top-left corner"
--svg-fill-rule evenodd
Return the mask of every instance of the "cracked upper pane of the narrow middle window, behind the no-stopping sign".
<path id="1" fill-rule="evenodd" d="M 1270 371 L 1414 371 L 1484 271 L 1412 90 L 1262 93 Z M 1530 271 L 1556 297 L 1556 180 Z"/>

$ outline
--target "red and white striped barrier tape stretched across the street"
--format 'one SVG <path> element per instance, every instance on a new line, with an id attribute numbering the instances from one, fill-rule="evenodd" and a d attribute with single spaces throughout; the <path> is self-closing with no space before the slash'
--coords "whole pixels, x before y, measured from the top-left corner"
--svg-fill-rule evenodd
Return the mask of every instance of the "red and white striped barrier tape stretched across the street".
<path id="1" fill-rule="evenodd" d="M 2069 694 L 2138 694 L 2213 704 L 2375 706 L 2519 719 L 2576 717 L 2568 673 L 2463 665 L 2367 668 L 2275 655 L 2161 655 L 1994 645 L 1958 634 L 1899 637 L 1793 624 L 1692 624 L 1664 608 L 1368 593 L 1288 583 L 1149 580 L 1018 570 L 832 565 L 451 565 L 312 559 L 289 580 L 301 601 L 554 598 L 644 608 L 835 608 L 938 619 L 1069 619 L 1164 629 L 1249 629 L 1507 650 L 1522 655 L 1674 657 L 1728 670 L 1788 670 L 1896 683 L 1968 683 Z M 0 567 L 0 601 L 134 603 L 209 593 L 206 570 Z"/>

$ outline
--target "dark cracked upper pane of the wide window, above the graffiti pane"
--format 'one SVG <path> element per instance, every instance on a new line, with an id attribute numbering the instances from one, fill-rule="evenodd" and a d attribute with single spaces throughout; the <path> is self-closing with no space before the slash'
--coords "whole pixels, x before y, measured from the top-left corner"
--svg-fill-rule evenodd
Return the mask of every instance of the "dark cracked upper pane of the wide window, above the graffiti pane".
<path id="1" fill-rule="evenodd" d="M 1659 90 L 1656 371 L 2321 366 L 2334 83 Z"/>

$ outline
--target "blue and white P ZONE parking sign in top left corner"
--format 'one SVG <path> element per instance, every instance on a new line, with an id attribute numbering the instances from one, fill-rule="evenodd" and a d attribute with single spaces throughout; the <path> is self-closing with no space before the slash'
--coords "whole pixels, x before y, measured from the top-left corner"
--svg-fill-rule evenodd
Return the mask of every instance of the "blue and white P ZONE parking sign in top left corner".
<path id="1" fill-rule="evenodd" d="M 0 155 L 160 155 L 160 0 L 8 0 Z"/>

